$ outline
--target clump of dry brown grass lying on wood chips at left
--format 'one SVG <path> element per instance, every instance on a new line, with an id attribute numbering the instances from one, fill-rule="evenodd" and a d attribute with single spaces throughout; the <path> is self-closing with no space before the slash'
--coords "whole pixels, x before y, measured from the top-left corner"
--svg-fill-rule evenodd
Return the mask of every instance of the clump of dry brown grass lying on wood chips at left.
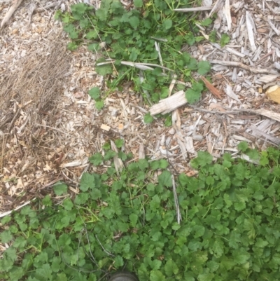
<path id="1" fill-rule="evenodd" d="M 59 137 L 48 128 L 55 124 L 57 118 L 56 101 L 69 75 L 70 60 L 65 42 L 59 37 L 47 42 L 46 46 L 43 54 L 29 53 L 15 64 L 13 70 L 6 69 L 1 79 L 1 174 L 11 154 L 13 157 L 18 155 L 22 160 L 31 155 L 31 162 L 35 163 L 45 156 L 46 151 L 39 146 L 34 149 L 34 143 L 45 144 L 48 139 Z M 15 139 L 18 143 L 24 142 L 25 148 L 10 149 L 15 146 Z"/>

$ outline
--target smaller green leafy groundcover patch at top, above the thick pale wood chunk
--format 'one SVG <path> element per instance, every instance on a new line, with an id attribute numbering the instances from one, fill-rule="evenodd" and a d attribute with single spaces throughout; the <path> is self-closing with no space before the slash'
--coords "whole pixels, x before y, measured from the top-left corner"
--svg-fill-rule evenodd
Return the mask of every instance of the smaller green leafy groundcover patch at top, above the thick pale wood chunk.
<path id="1" fill-rule="evenodd" d="M 98 10 L 80 3 L 71 6 L 71 13 L 57 12 L 56 18 L 62 20 L 64 30 L 72 40 L 68 46 L 70 50 L 76 50 L 85 42 L 89 50 L 102 54 L 95 70 L 100 75 L 112 74 L 112 78 L 107 79 L 109 88 L 121 88 L 124 81 L 132 81 L 144 98 L 158 102 L 168 97 L 168 87 L 176 74 L 182 82 L 193 84 L 192 91 L 186 91 L 187 99 L 193 103 L 200 99 L 204 84 L 196 82 L 192 72 L 204 75 L 211 67 L 209 62 L 197 62 L 181 49 L 186 44 L 192 46 L 204 40 L 195 24 L 207 28 L 212 20 L 208 18 L 201 22 L 196 16 L 190 18 L 190 14 L 173 11 L 191 6 L 193 1 L 190 0 L 134 0 L 134 8 L 125 9 L 118 0 L 102 0 Z M 160 55 L 155 43 L 158 43 Z M 228 43 L 227 38 L 223 38 L 223 43 Z M 106 59 L 112 59 L 113 64 Z M 128 66 L 123 62 L 148 64 L 146 67 L 150 70 L 139 71 L 131 63 Z M 176 90 L 184 88 L 185 85 L 176 85 Z M 89 93 L 101 109 L 103 101 L 99 90 L 92 89 Z"/>

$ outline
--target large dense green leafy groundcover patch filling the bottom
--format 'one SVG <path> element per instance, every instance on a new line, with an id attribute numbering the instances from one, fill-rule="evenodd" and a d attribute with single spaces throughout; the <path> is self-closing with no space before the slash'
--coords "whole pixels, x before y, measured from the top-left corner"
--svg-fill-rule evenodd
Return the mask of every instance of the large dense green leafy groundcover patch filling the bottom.
<path id="1" fill-rule="evenodd" d="M 45 196 L 1 220 L 0 279 L 95 281 L 126 268 L 140 281 L 279 280 L 280 151 L 239 149 L 260 164 L 227 153 L 213 163 L 199 152 L 191 162 L 198 176 L 179 175 L 181 224 L 166 160 L 130 163 L 120 177 L 113 167 L 84 173 L 74 200 L 55 205 Z M 100 156 L 90 161 L 99 165 Z"/>

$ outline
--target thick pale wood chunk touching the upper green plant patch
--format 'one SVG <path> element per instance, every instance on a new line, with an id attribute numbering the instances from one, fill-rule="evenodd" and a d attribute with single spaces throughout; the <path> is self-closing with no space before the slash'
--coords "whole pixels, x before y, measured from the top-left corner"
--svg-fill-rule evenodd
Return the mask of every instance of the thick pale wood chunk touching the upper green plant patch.
<path id="1" fill-rule="evenodd" d="M 171 97 L 167 97 L 164 100 L 160 100 L 158 104 L 154 104 L 150 109 L 151 115 L 156 114 L 167 114 L 174 109 L 178 109 L 182 105 L 186 104 L 188 100 L 186 99 L 185 92 L 183 90 L 176 92 Z"/>

